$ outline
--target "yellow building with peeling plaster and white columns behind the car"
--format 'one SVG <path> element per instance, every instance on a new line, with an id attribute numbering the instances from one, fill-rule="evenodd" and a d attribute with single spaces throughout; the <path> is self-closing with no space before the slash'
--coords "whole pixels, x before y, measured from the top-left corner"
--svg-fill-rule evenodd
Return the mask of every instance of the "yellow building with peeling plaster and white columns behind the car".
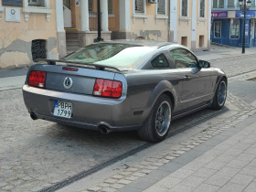
<path id="1" fill-rule="evenodd" d="M 98 0 L 0 0 L 0 69 L 59 59 L 98 36 Z M 208 49 L 211 0 L 100 0 L 101 38 Z"/>

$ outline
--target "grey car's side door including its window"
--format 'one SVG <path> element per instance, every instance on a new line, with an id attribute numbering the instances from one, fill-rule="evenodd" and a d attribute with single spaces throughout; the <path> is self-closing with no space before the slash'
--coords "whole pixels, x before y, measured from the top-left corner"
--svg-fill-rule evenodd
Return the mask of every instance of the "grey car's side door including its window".
<path id="1" fill-rule="evenodd" d="M 211 77 L 209 69 L 199 69 L 196 56 L 185 48 L 174 48 L 169 53 L 182 79 L 180 101 L 182 109 L 189 110 L 210 100 Z"/>

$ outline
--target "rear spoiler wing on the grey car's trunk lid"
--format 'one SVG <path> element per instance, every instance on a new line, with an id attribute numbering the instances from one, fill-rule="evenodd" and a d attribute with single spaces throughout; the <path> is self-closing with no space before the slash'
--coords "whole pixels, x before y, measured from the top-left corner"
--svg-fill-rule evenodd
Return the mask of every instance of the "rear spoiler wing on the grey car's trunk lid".
<path id="1" fill-rule="evenodd" d="M 104 70 L 104 69 L 115 69 L 118 72 L 122 72 L 122 70 L 112 67 L 112 66 L 107 66 L 107 65 L 99 65 L 99 64 L 93 64 L 93 63 L 82 63 L 82 62 L 76 62 L 76 61 L 68 61 L 68 60 L 57 60 L 57 59 L 36 59 L 35 62 L 38 61 L 46 61 L 48 62 L 48 65 L 56 65 L 57 62 L 60 63 L 68 63 L 70 66 L 76 66 L 76 67 L 81 67 L 81 68 L 86 68 L 86 66 L 91 66 L 95 67 L 95 69 L 98 70 Z"/>

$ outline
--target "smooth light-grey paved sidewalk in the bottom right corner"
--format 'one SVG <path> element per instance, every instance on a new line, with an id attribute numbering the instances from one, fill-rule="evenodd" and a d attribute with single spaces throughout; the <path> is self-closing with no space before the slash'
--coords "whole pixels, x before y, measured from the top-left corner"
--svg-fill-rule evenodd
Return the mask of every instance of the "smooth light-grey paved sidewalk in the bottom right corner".
<path id="1" fill-rule="evenodd" d="M 208 152 L 180 167 L 169 176 L 161 179 L 144 192 L 155 191 L 223 191 L 235 192 L 256 190 L 256 121 L 252 119 L 240 124 L 227 137 Z M 254 119 L 254 120 L 253 120 Z M 240 130 L 241 129 L 241 130 Z M 212 145 L 212 141 L 206 143 Z M 196 149 L 198 150 L 198 149 Z M 178 164 L 178 160 L 176 164 Z M 137 183 L 133 190 L 127 187 L 122 191 L 141 191 Z"/>

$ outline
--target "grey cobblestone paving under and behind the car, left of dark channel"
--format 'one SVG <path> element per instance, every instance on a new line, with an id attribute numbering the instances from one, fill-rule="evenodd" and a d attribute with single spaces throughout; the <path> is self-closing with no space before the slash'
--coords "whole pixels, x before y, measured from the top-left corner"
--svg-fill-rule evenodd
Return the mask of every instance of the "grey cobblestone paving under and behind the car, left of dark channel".
<path id="1" fill-rule="evenodd" d="M 134 132 L 102 135 L 32 121 L 21 93 L 0 91 L 0 191 L 38 191 L 145 144 Z M 216 113 L 204 110 L 177 120 L 173 132 Z"/>

